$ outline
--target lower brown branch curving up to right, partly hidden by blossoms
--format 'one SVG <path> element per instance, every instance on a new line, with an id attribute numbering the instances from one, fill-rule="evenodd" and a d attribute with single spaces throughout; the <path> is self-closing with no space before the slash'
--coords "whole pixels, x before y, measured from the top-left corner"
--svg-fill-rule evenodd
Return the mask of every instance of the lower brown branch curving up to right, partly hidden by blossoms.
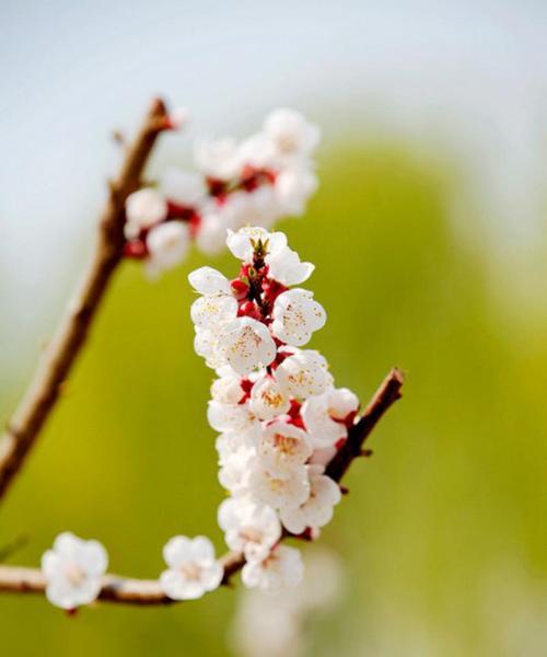
<path id="1" fill-rule="evenodd" d="M 375 427 L 384 413 L 400 399 L 403 374 L 398 369 L 393 369 L 384 379 L 381 387 L 364 410 L 361 418 L 350 429 L 348 440 L 329 463 L 326 473 L 339 482 L 352 461 L 361 456 L 364 441 Z M 245 565 L 241 553 L 228 552 L 221 563 L 224 567 L 223 585 L 230 584 L 230 578 Z M 0 566 L 0 591 L 21 593 L 43 593 L 46 589 L 46 579 L 37 568 L 21 568 L 15 566 Z M 128 579 L 117 575 L 106 575 L 100 600 L 121 602 L 128 604 L 172 604 L 165 596 L 158 580 Z"/>

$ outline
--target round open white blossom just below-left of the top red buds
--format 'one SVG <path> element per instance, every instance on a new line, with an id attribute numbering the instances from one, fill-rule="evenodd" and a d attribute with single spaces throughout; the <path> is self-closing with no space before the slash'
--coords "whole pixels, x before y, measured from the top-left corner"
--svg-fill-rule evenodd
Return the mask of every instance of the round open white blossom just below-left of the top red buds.
<path id="1" fill-rule="evenodd" d="M 276 358 L 276 343 L 267 326 L 252 318 L 237 318 L 222 328 L 222 353 L 238 374 L 248 374 Z"/>

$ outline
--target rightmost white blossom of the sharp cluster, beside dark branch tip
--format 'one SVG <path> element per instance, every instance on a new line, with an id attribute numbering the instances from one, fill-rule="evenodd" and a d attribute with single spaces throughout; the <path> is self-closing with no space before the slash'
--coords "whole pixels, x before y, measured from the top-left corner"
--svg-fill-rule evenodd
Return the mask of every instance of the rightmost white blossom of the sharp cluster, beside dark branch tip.
<path id="1" fill-rule="evenodd" d="M 302 404 L 301 415 L 316 448 L 330 447 L 347 438 L 348 429 L 341 422 L 359 407 L 359 400 L 348 389 L 329 390 L 310 397 Z"/>

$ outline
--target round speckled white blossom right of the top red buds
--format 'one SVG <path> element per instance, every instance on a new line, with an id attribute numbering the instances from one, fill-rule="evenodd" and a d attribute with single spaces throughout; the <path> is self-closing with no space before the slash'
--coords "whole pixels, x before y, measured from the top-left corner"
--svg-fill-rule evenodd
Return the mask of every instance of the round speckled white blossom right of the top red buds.
<path id="1" fill-rule="evenodd" d="M 289 345 L 300 347 L 325 325 L 326 313 L 309 290 L 294 288 L 279 295 L 274 303 L 271 332 Z"/>

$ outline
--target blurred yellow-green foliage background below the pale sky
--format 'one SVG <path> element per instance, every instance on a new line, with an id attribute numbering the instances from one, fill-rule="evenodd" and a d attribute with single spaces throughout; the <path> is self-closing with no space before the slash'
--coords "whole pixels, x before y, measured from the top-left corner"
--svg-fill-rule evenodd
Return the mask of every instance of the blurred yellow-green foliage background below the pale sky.
<path id="1" fill-rule="evenodd" d="M 352 141 L 323 152 L 310 211 L 279 227 L 316 264 L 310 287 L 328 322 L 311 346 L 338 384 L 365 402 L 391 366 L 408 380 L 321 539 L 347 581 L 336 609 L 310 625 L 311 654 L 547 655 L 545 314 L 519 312 L 477 217 L 463 227 L 474 240 L 454 230 L 451 166 L 412 145 Z M 65 529 L 101 540 L 113 572 L 141 577 L 158 575 L 176 533 L 206 533 L 223 551 L 205 414 L 212 372 L 193 351 L 186 283 L 206 262 L 194 254 L 158 284 L 132 263 L 119 272 L 2 506 L 0 542 L 30 537 L 11 562 L 37 565 Z M 210 264 L 236 267 L 228 255 Z M 526 274 L 543 291 L 538 309 L 544 274 Z M 27 374 L 2 383 L 5 417 Z M 229 655 L 237 589 L 75 618 L 3 595 L 2 654 Z"/>

